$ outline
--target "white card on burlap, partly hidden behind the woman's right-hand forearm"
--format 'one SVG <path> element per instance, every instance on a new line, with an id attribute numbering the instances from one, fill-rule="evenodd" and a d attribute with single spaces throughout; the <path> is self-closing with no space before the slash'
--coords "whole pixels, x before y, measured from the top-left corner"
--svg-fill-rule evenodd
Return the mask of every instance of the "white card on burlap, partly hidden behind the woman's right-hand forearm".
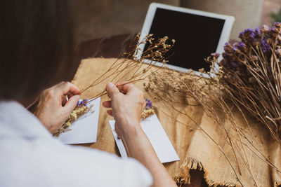
<path id="1" fill-rule="evenodd" d="M 122 158 L 127 158 L 126 150 L 122 140 L 117 138 L 118 136 L 115 132 L 115 120 L 110 120 L 109 123 Z M 141 127 L 148 136 L 152 147 L 162 163 L 179 160 L 171 141 L 166 135 L 166 132 L 164 131 L 159 119 L 155 114 L 146 118 L 145 120 L 142 120 Z"/>

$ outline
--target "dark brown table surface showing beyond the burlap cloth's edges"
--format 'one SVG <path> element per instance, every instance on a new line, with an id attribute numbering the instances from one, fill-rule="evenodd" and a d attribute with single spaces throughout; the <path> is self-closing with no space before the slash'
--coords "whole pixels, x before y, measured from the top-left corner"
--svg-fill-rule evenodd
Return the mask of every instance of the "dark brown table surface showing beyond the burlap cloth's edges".
<path id="1" fill-rule="evenodd" d="M 74 66 L 72 75 L 74 76 L 79 63 L 82 59 L 89 57 L 122 57 L 129 43 L 133 39 L 133 34 L 122 34 L 110 38 L 93 39 L 82 42 L 77 48 L 74 56 Z M 73 77 L 72 77 L 73 78 Z M 191 181 L 188 187 L 205 187 L 208 186 L 203 178 L 204 172 L 200 170 L 191 170 Z"/>

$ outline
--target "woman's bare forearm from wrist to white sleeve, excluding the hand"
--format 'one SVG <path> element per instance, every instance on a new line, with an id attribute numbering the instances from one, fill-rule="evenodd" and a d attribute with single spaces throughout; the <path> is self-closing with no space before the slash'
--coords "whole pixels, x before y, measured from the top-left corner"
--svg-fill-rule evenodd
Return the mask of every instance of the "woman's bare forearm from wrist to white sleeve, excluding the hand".
<path id="1" fill-rule="evenodd" d="M 176 186 L 176 183 L 158 159 L 148 137 L 141 129 L 122 138 L 127 154 L 140 161 L 152 174 L 153 186 Z"/>

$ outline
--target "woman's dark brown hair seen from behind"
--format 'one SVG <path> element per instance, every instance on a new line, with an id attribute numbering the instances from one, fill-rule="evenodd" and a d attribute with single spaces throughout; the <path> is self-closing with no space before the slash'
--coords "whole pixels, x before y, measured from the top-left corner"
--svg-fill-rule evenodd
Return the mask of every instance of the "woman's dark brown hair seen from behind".
<path id="1" fill-rule="evenodd" d="M 70 2 L 1 2 L 0 100 L 34 97 L 65 78 L 74 50 Z"/>

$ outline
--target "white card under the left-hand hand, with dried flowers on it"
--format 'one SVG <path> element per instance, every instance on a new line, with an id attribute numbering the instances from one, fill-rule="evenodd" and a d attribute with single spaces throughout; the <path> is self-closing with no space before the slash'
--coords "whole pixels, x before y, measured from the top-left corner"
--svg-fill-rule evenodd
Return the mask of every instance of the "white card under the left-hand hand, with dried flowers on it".
<path id="1" fill-rule="evenodd" d="M 100 97 L 88 103 L 91 110 L 72 123 L 71 130 L 60 134 L 58 139 L 64 144 L 87 144 L 96 142 L 98 134 L 98 116 Z"/>

